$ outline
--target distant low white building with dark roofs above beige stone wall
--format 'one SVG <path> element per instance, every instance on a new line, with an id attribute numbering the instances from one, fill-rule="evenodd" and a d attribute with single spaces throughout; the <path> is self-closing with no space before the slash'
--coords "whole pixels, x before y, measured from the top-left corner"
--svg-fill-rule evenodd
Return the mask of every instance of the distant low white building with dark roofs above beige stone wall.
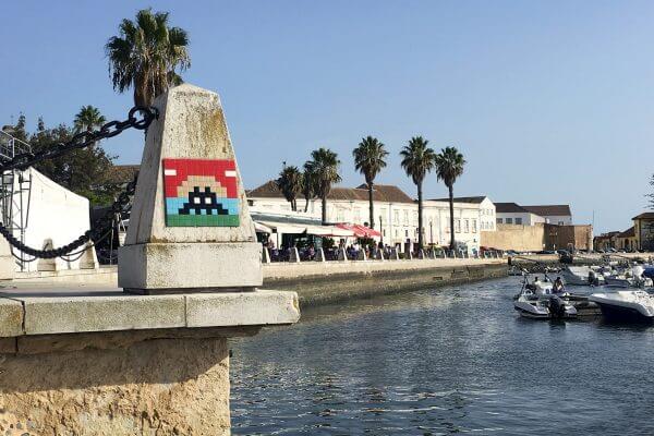
<path id="1" fill-rule="evenodd" d="M 496 203 L 497 223 L 534 226 L 538 222 L 571 226 L 569 205 L 520 206 L 516 203 Z"/>

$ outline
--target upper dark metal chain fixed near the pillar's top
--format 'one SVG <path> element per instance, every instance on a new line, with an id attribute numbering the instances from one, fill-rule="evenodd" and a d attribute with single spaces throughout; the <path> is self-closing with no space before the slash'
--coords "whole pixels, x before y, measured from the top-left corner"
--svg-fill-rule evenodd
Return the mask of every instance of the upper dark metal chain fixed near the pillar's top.
<path id="1" fill-rule="evenodd" d="M 141 113 L 143 117 L 142 119 L 136 118 L 137 112 Z M 22 171 L 26 170 L 34 164 L 37 164 L 41 160 L 56 159 L 74 149 L 86 148 L 99 140 L 113 137 L 128 129 L 145 130 L 150 125 L 153 120 L 157 119 L 158 117 L 159 111 L 157 108 L 135 106 L 130 109 L 128 119 L 124 121 L 109 121 L 108 123 L 102 124 L 102 126 L 95 132 L 80 132 L 65 143 L 57 143 L 52 147 L 48 147 L 36 153 L 21 153 L 15 155 L 12 159 L 3 160 L 0 162 L 0 172 L 14 169 Z"/>

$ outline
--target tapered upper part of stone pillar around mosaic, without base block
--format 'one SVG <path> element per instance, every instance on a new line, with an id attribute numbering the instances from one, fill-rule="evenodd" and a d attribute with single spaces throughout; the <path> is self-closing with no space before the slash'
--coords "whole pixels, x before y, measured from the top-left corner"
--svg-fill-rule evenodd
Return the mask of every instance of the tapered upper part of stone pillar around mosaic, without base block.
<path id="1" fill-rule="evenodd" d="M 218 94 L 190 84 L 170 88 L 154 104 L 159 119 L 147 131 L 126 245 L 148 242 L 256 242 L 241 174 L 237 167 L 240 227 L 167 227 L 164 158 L 233 159 Z"/>

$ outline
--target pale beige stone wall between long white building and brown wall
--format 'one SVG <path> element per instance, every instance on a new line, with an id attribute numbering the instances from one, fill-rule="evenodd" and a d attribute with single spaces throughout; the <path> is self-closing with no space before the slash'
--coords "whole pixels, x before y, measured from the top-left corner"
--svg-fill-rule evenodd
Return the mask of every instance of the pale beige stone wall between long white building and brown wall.
<path id="1" fill-rule="evenodd" d="M 537 252 L 543 250 L 545 226 L 497 225 L 496 231 L 482 231 L 481 245 L 498 250 Z"/>

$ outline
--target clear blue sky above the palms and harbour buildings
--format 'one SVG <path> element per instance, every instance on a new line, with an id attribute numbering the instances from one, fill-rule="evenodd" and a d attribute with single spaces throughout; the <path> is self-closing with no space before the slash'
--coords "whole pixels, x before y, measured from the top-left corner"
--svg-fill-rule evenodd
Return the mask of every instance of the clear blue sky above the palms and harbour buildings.
<path id="1" fill-rule="evenodd" d="M 622 230 L 654 169 L 651 1 L 21 1 L 3 4 L 0 123 L 72 120 L 83 105 L 123 119 L 104 44 L 123 17 L 170 11 L 191 37 L 186 82 L 222 99 L 247 187 L 326 146 L 344 185 L 351 150 L 391 153 L 382 183 L 414 195 L 398 152 L 421 134 L 465 155 L 458 195 L 569 203 L 578 223 Z M 141 160 L 142 135 L 105 144 Z M 446 195 L 429 177 L 428 197 Z"/>

